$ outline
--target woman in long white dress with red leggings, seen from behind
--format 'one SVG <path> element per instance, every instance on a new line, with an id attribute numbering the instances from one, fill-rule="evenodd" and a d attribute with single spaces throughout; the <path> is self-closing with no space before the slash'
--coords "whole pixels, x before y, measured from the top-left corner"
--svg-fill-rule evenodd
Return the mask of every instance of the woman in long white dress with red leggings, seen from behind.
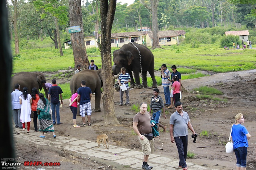
<path id="1" fill-rule="evenodd" d="M 21 110 L 20 110 L 20 122 L 22 122 L 22 131 L 25 131 L 25 123 L 28 125 L 28 133 L 30 128 L 30 113 L 31 113 L 31 103 L 32 103 L 32 97 L 30 94 L 28 94 L 28 88 L 24 87 L 22 95 L 20 95 L 20 104 L 21 104 Z"/>

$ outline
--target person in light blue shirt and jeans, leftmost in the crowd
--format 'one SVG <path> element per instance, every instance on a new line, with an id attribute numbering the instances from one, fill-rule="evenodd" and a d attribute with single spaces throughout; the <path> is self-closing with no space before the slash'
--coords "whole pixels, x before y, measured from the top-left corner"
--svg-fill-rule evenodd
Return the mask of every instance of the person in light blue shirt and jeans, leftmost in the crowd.
<path id="1" fill-rule="evenodd" d="M 14 85 L 15 90 L 11 93 L 12 97 L 12 117 L 15 124 L 15 128 L 22 129 L 22 123 L 20 122 L 20 95 L 22 92 L 20 91 L 20 85 L 17 83 Z"/>

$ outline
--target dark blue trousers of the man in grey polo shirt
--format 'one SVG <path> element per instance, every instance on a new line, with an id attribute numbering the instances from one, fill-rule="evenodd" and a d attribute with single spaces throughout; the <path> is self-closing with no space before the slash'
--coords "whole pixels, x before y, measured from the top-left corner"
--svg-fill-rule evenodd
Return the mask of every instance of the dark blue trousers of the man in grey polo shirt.
<path id="1" fill-rule="evenodd" d="M 181 166 L 182 168 L 185 168 L 187 167 L 186 159 L 187 159 L 187 152 L 188 152 L 188 135 L 174 137 L 174 140 L 175 140 L 175 144 L 177 146 L 179 158 L 180 158 L 179 166 Z"/>

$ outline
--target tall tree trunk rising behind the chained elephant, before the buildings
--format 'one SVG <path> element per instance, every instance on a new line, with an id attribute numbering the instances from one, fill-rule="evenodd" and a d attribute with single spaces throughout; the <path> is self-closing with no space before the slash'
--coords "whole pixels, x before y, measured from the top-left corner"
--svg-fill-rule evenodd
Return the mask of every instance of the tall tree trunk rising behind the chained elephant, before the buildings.
<path id="1" fill-rule="evenodd" d="M 157 21 L 157 6 L 158 0 L 150 0 L 152 7 L 152 31 L 153 31 L 153 44 L 152 49 L 159 48 L 158 40 L 158 21 Z"/>

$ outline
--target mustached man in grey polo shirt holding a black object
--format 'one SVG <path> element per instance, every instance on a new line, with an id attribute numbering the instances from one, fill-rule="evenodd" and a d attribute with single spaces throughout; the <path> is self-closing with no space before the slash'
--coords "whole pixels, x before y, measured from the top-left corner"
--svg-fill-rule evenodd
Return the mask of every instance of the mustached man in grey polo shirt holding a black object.
<path id="1" fill-rule="evenodd" d="M 188 169 L 186 164 L 187 152 L 188 152 L 188 128 L 193 132 L 193 135 L 196 134 L 188 113 L 182 110 L 182 103 L 175 103 L 176 112 L 172 113 L 170 117 L 170 135 L 171 142 L 176 143 L 178 152 L 179 152 L 179 167 L 182 167 L 183 170 Z"/>

